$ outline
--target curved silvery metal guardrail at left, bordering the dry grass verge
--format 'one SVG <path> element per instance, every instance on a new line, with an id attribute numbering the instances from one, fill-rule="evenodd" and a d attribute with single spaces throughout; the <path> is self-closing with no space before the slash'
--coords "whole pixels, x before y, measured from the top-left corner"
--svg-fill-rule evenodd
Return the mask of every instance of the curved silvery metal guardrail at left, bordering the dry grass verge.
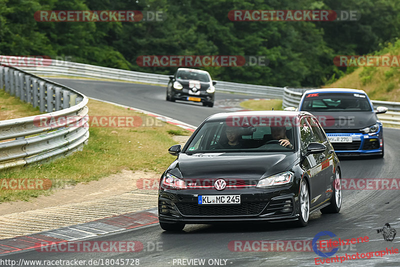
<path id="1" fill-rule="evenodd" d="M 87 141 L 88 98 L 83 94 L 2 65 L 0 89 L 47 112 L 0 120 L 0 169 L 66 156 Z"/>

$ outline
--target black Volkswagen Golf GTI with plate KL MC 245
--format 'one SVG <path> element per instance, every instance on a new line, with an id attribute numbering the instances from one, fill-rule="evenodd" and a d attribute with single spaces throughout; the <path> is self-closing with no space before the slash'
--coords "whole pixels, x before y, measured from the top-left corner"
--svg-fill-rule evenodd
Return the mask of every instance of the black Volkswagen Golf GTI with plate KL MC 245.
<path id="1" fill-rule="evenodd" d="M 205 119 L 161 175 L 164 230 L 219 221 L 308 223 L 339 212 L 339 160 L 317 119 L 305 111 L 218 113 Z"/>

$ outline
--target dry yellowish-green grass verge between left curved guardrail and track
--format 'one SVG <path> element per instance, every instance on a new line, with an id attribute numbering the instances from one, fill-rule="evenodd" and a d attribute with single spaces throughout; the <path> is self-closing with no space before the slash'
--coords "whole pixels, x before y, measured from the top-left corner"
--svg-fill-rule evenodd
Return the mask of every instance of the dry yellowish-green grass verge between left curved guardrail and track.
<path id="1" fill-rule="evenodd" d="M 143 116 L 126 108 L 95 100 L 89 100 L 88 107 L 89 116 Z M 36 112 L 32 109 L 30 111 L 32 114 Z M 175 144 L 171 132 L 179 135 L 189 135 L 190 132 L 161 121 L 157 125 L 160 126 L 90 127 L 89 141 L 82 151 L 48 163 L 1 170 L 0 179 L 49 179 L 54 188 L 96 180 L 122 169 L 162 173 L 175 158 L 167 152 L 168 147 Z M 40 194 L 50 193 L 51 188 L 7 190 L 4 186 L 1 187 L 0 181 L 0 202 L 29 200 Z"/>

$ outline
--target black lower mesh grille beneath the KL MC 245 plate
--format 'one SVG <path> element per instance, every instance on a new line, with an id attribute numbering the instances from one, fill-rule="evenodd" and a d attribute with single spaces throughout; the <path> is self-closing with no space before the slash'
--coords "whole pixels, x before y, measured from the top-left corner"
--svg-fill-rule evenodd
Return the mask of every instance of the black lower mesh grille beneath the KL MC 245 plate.
<path id="1" fill-rule="evenodd" d="M 266 203 L 242 203 L 240 205 L 198 205 L 176 203 L 179 212 L 184 216 L 239 216 L 258 215 Z"/>

